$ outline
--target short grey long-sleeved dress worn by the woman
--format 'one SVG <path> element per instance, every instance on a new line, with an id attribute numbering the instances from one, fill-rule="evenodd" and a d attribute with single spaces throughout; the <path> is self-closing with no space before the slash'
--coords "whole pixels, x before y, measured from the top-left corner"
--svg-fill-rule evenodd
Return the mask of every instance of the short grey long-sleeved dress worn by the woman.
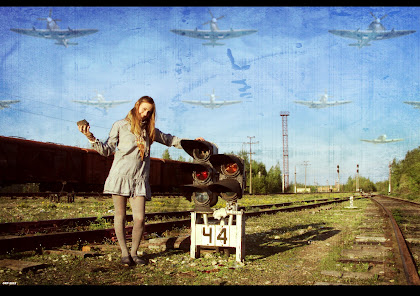
<path id="1" fill-rule="evenodd" d="M 112 125 L 105 143 L 98 139 L 92 143 L 92 148 L 103 156 L 109 156 L 115 151 L 114 161 L 105 181 L 104 193 L 127 197 L 145 196 L 146 200 L 151 200 L 149 137 L 146 135 L 146 147 L 142 160 L 136 136 L 130 128 L 127 120 L 119 120 Z M 180 138 L 164 134 L 159 129 L 155 129 L 155 141 L 182 149 Z"/>

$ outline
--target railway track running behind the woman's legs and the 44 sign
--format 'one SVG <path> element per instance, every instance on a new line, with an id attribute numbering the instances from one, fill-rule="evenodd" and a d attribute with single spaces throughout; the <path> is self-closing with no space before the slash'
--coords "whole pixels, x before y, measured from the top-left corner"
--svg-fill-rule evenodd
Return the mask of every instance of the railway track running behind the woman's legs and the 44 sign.
<path id="1" fill-rule="evenodd" d="M 328 205 L 332 203 L 348 201 L 349 197 L 333 199 L 314 199 L 304 202 L 287 202 L 269 205 L 253 205 L 246 207 L 245 216 L 259 216 L 263 214 L 274 214 L 277 212 L 300 211 Z M 240 207 L 241 208 L 241 207 Z M 243 208 L 243 207 L 242 207 Z M 190 226 L 190 211 L 146 213 L 146 233 L 158 235 L 173 228 Z M 166 217 L 176 219 L 173 221 L 148 223 L 148 219 Z M 186 218 L 188 217 L 188 218 Z M 100 242 L 104 239 L 115 237 L 113 228 L 75 231 L 71 228 L 87 226 L 97 221 L 97 217 L 44 220 L 32 222 L 15 222 L 0 224 L 0 254 L 7 252 L 20 252 L 37 250 L 42 248 L 55 248 L 62 245 L 72 245 L 78 242 Z M 113 216 L 104 216 L 102 219 L 112 221 Z M 127 215 L 127 221 L 132 216 Z M 65 231 L 63 231 L 65 229 Z M 130 235 L 132 227 L 127 227 Z M 17 235 L 21 234 L 21 235 Z"/>

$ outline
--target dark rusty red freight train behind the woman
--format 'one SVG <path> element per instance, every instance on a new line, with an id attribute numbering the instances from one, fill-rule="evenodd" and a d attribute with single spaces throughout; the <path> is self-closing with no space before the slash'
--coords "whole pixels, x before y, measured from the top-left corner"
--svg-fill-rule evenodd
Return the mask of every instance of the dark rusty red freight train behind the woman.
<path id="1" fill-rule="evenodd" d="M 41 192 L 102 192 L 113 158 L 93 149 L 0 136 L 0 186 L 39 183 Z M 180 192 L 192 183 L 189 166 L 151 158 L 152 193 Z"/>

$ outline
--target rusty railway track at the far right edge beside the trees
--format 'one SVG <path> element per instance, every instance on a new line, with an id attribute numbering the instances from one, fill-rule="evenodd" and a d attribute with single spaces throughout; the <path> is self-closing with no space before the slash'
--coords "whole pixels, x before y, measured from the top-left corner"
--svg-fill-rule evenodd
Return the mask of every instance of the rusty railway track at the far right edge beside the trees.
<path id="1" fill-rule="evenodd" d="M 420 204 L 384 195 L 372 200 L 390 220 L 407 283 L 420 285 Z"/>

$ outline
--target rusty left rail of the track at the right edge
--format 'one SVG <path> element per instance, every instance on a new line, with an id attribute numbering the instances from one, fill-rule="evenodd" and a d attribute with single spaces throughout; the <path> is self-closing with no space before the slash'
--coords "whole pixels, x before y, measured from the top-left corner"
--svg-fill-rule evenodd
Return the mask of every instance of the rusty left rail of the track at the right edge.
<path id="1" fill-rule="evenodd" d="M 386 197 L 386 198 L 389 198 L 389 197 Z M 410 285 L 420 285 L 420 277 L 416 269 L 416 264 L 414 262 L 414 259 L 411 255 L 411 252 L 407 246 L 407 243 L 404 239 L 404 236 L 397 222 L 395 221 L 389 209 L 387 209 L 380 201 L 378 201 L 375 197 L 372 197 L 371 200 L 373 200 L 378 205 L 378 207 L 384 211 L 385 215 L 389 218 L 389 221 L 394 230 L 395 238 L 397 240 L 398 250 L 400 253 L 401 262 L 404 268 L 404 273 L 405 273 L 407 283 Z"/>

